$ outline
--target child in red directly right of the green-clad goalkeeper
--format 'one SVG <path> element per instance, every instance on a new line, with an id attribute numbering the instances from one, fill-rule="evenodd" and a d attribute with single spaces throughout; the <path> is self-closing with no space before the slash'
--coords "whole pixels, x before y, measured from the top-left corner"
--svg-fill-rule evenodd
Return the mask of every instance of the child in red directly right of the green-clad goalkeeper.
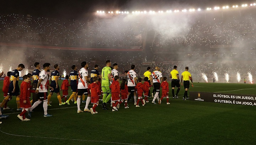
<path id="1" fill-rule="evenodd" d="M 120 83 L 119 83 L 119 76 L 114 76 L 114 81 L 110 85 L 111 89 L 111 98 L 112 98 L 112 111 L 118 111 L 117 110 L 117 104 L 119 104 L 120 101 Z"/>

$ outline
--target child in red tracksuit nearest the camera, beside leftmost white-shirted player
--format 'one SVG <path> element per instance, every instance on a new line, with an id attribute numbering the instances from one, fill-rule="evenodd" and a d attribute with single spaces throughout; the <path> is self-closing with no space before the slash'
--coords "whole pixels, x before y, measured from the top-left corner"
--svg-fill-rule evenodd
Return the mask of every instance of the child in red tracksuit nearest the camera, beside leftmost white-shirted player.
<path id="1" fill-rule="evenodd" d="M 30 119 L 26 118 L 25 114 L 26 112 L 31 108 L 30 103 L 30 77 L 27 75 L 23 76 L 23 81 L 21 83 L 20 88 L 20 107 L 22 108 L 21 114 L 17 115 L 18 118 L 20 118 L 21 121 L 30 121 Z"/>

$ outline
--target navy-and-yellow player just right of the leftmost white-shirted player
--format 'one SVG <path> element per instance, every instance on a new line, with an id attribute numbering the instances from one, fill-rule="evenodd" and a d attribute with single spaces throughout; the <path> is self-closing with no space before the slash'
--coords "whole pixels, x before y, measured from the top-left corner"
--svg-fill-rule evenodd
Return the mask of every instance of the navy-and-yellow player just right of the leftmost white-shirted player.
<path id="1" fill-rule="evenodd" d="M 50 86 L 53 87 L 54 89 L 53 90 L 50 90 L 50 93 L 48 95 L 48 106 L 52 106 L 50 105 L 50 98 L 52 97 L 53 93 L 56 93 L 57 94 L 57 98 L 59 100 L 59 105 L 64 105 L 66 104 L 65 102 L 63 103 L 62 100 L 61 100 L 61 97 L 60 97 L 60 89 L 59 89 L 59 84 L 58 84 L 58 80 L 59 80 L 59 65 L 58 64 L 55 64 L 54 66 L 54 71 L 51 73 L 50 75 L 50 78 L 51 78 L 51 83 L 50 83 Z"/>

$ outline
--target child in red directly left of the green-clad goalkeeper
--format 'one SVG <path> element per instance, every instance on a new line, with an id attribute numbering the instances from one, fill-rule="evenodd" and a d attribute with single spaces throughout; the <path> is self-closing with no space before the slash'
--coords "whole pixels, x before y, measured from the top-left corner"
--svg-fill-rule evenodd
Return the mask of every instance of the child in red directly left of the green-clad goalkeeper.
<path id="1" fill-rule="evenodd" d="M 98 86 L 98 77 L 94 76 L 92 78 L 92 81 L 94 81 L 94 83 L 91 83 L 88 86 L 88 89 L 90 89 L 91 92 L 91 103 L 93 103 L 93 107 L 90 108 L 91 114 L 96 114 L 98 112 L 96 112 L 95 108 L 98 106 L 98 100 L 99 100 L 99 94 L 101 94 L 99 86 Z"/>

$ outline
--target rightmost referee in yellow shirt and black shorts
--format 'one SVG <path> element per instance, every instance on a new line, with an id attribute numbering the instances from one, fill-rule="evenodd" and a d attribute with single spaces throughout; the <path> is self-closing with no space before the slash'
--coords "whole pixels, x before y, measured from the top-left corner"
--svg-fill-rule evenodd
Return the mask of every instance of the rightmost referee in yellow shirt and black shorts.
<path id="1" fill-rule="evenodd" d="M 188 91 L 188 88 L 190 86 L 189 80 L 191 80 L 191 84 L 193 85 L 192 76 L 191 76 L 190 72 L 188 72 L 188 67 L 187 66 L 185 68 L 185 71 L 181 74 L 181 85 L 183 85 L 182 80 L 184 81 L 183 84 L 184 84 L 184 88 L 185 88 L 183 100 L 186 100 L 186 99 L 189 99 L 187 97 L 187 91 Z M 185 99 L 185 97 L 186 97 L 186 99 Z"/>

